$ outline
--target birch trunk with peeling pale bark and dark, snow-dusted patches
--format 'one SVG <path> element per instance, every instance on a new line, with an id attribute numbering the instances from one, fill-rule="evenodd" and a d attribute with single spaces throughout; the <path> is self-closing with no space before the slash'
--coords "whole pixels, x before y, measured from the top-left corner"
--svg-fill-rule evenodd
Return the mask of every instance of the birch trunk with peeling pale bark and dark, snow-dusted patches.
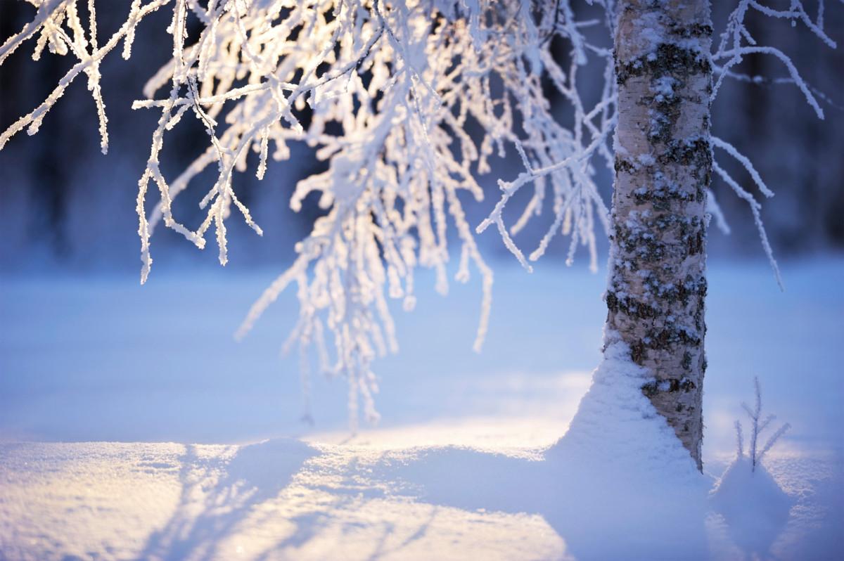
<path id="1" fill-rule="evenodd" d="M 711 176 L 709 0 L 621 0 L 619 122 L 608 332 L 702 469 L 706 191 Z"/>

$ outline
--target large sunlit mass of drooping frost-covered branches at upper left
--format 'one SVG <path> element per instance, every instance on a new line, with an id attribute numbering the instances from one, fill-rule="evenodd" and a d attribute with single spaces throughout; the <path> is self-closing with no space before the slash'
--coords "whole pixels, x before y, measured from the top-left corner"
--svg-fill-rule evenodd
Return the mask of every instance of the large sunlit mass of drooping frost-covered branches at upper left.
<path id="1" fill-rule="evenodd" d="M 262 179 L 270 158 L 288 159 L 289 143 L 306 143 L 328 162 L 328 170 L 300 181 L 290 206 L 300 210 L 305 197 L 317 192 L 327 214 L 296 245 L 294 265 L 253 306 L 238 334 L 295 282 L 300 318 L 289 346 L 298 342 L 307 353 L 316 345 L 321 369 L 348 378 L 353 418 L 358 396 L 365 416 L 376 418 L 371 361 L 397 348 L 387 299 L 403 300 L 406 310 L 414 307 L 416 267 L 435 269 L 437 289 L 447 291 L 446 233 L 453 224 L 461 256 L 457 279 L 466 282 L 472 264 L 483 279 L 475 341 L 480 348 L 490 316 L 492 272 L 458 193 L 482 198 L 473 167 L 489 170 L 494 147 L 503 154 L 505 145 L 517 140 L 513 123 L 523 116 L 516 100 L 524 89 L 517 77 L 527 72 L 528 44 L 538 41 L 533 20 L 526 17 L 529 4 L 133 0 L 126 23 L 103 46 L 95 38 L 92 1 L 83 8 L 78 0 L 35 4 L 33 21 L 0 47 L 0 61 L 37 38 L 36 58 L 49 44 L 51 52 L 79 62 L 35 111 L 3 132 L 0 146 L 24 127 L 34 133 L 68 84 L 84 72 L 105 149 L 100 61 L 121 40 L 128 57 L 138 23 L 156 9 L 171 8 L 170 61 L 143 89 L 148 99 L 133 104 L 160 111 L 138 182 L 142 283 L 153 262 L 151 235 L 160 222 L 199 248 L 214 229 L 221 264 L 228 260 L 226 222 L 233 209 L 260 235 L 236 194 L 235 172 L 246 170 L 254 152 L 255 173 Z M 80 23 L 79 9 L 89 13 L 89 30 Z M 200 31 L 188 43 L 191 20 Z M 499 79 L 508 85 L 494 95 L 491 84 Z M 534 104 L 538 94 L 534 88 Z M 207 132 L 208 148 L 180 175 L 166 178 L 160 160 L 168 134 L 191 116 Z M 480 139 L 467 130 L 477 123 L 484 129 Z M 172 202 L 209 166 L 216 166 L 217 178 L 199 201 L 202 223 L 191 229 L 173 215 Z M 148 213 L 150 184 L 159 200 Z M 334 359 L 328 359 L 324 335 L 333 340 Z"/>

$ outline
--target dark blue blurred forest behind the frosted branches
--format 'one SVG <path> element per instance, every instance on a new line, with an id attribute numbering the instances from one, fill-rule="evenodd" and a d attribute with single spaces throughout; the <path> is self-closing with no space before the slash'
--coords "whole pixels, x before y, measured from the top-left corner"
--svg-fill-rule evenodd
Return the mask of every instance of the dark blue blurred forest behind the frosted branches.
<path id="1" fill-rule="evenodd" d="M 787 8 L 787 2 L 779 4 Z M 816 3 L 809 0 L 804 4 L 809 13 L 815 13 Z M 106 37 L 122 24 L 129 0 L 98 2 L 96 6 L 98 34 Z M 582 8 L 578 19 L 589 19 L 586 3 L 582 3 Z M 732 8 L 731 1 L 713 2 L 717 32 L 723 29 Z M 18 32 L 33 13 L 35 8 L 29 3 L 0 0 L 0 40 Z M 169 20 L 170 11 L 162 9 L 140 25 L 130 61 L 122 60 L 119 49 L 106 57 L 101 70 L 111 137 L 107 156 L 100 154 L 95 105 L 85 89 L 84 78 L 68 89 L 35 137 L 19 134 L 0 152 L 3 274 L 139 269 L 137 182 L 149 157 L 150 136 L 160 114 L 152 110 L 133 111 L 131 104 L 143 97 L 141 90 L 147 78 L 169 60 L 172 43 L 165 33 Z M 771 83 L 772 79 L 787 76 L 782 62 L 771 56 L 748 57 L 738 68 L 739 72 L 766 80 L 755 84 L 728 80 L 713 106 L 714 134 L 749 156 L 776 192 L 776 197 L 764 202 L 762 216 L 778 257 L 844 247 L 844 6 L 830 3 L 825 20 L 827 33 L 838 43 L 835 51 L 802 24 L 793 28 L 789 21 L 751 16 L 755 26 L 752 31 L 760 44 L 777 46 L 792 57 L 803 78 L 820 93 L 819 97 L 824 97 L 820 105 L 825 121 L 814 116 L 793 84 Z M 195 19 L 193 24 L 197 24 Z M 594 33 L 596 37 L 606 35 L 599 26 Z M 605 44 L 608 41 L 608 37 L 602 40 Z M 24 44 L 0 67 L 0 129 L 32 111 L 72 63 L 70 57 L 49 53 L 40 62 L 33 62 L 33 47 L 34 42 Z M 564 45 L 559 46 L 558 52 L 561 58 L 568 56 Z M 582 84 L 592 83 L 597 94 L 603 67 L 597 60 L 592 62 L 596 64 L 584 67 L 579 80 Z M 558 108 L 561 120 L 570 118 L 564 100 L 551 88 L 549 99 Z M 165 176 L 172 178 L 183 170 L 207 142 L 202 127 L 193 119 L 184 119 L 165 137 Z M 311 148 L 291 148 L 291 159 L 271 162 L 263 181 L 255 178 L 254 163 L 246 173 L 235 175 L 235 191 L 252 208 L 265 233 L 263 238 L 257 238 L 240 219 L 230 221 L 230 259 L 235 267 L 289 262 L 295 241 L 307 234 L 321 212 L 314 200 L 299 214 L 288 208 L 296 181 L 326 167 L 314 158 Z M 486 201 L 464 199 L 472 224 L 478 224 L 497 200 L 495 179 L 511 179 L 521 171 L 519 160 L 513 158 L 514 154 L 509 155 L 497 162 L 493 173 L 483 181 L 490 193 Z M 751 190 L 744 170 L 725 154 L 716 155 Z M 601 165 L 596 167 L 603 175 L 603 195 L 609 203 L 612 177 Z M 176 199 L 176 218 L 193 228 L 199 224 L 202 214 L 197 202 L 212 181 L 213 176 L 207 172 L 192 182 L 187 192 Z M 747 204 L 717 178 L 712 189 L 733 234 L 724 236 L 713 224 L 710 256 L 764 257 Z M 529 196 L 528 190 L 524 191 L 519 194 Z M 758 192 L 755 188 L 752 191 Z M 148 197 L 148 204 L 155 200 L 156 193 L 150 193 L 153 196 Z M 521 211 L 523 202 L 526 201 L 512 205 L 514 214 Z M 517 236 L 517 242 L 522 247 L 532 247 L 550 219 L 546 209 L 543 217 Z M 499 236 L 491 230 L 480 238 L 487 256 L 506 253 Z M 567 241 L 556 240 L 558 256 Z M 180 235 L 159 228 L 153 236 L 153 256 L 160 272 L 170 268 L 168 263 L 213 266 L 217 252 L 197 251 Z M 586 258 L 581 256 L 583 261 Z"/>

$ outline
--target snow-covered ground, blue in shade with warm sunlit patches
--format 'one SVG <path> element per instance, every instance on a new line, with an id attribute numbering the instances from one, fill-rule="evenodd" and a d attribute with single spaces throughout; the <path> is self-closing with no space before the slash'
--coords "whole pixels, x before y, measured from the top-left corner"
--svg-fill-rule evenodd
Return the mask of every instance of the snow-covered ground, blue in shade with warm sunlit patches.
<path id="1" fill-rule="evenodd" d="M 785 293 L 764 264 L 711 265 L 697 483 L 582 461 L 571 433 L 544 451 L 600 361 L 603 272 L 498 267 L 480 355 L 478 287 L 420 278 L 376 364 L 381 424 L 354 437 L 342 380 L 311 380 L 299 420 L 293 294 L 230 337 L 273 271 L 2 279 L 0 558 L 842 558 L 844 260 L 783 269 Z M 755 375 L 793 425 L 776 484 L 737 466 L 707 499 Z"/>

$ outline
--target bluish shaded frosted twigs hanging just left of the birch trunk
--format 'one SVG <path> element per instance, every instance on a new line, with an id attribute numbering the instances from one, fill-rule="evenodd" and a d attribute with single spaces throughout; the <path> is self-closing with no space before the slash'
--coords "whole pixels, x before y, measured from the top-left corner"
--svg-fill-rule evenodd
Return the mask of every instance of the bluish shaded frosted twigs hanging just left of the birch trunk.
<path id="1" fill-rule="evenodd" d="M 527 138 L 517 142 L 524 171 L 512 181 L 498 181 L 500 200 L 490 215 L 479 224 L 477 231 L 481 233 L 495 224 L 507 249 L 517 257 L 522 267 L 528 272 L 532 271 L 511 235 L 516 235 L 530 218 L 542 213 L 550 184 L 554 220 L 528 259 L 537 261 L 543 256 L 555 235 L 571 235 L 566 263 L 571 265 L 576 247 L 581 243 L 589 248 L 590 267 L 594 271 L 598 267 L 596 215 L 604 232 L 609 233 L 609 209 L 598 194 L 593 157 L 599 154 L 609 169 L 612 169 L 614 156 L 609 148 L 609 138 L 616 121 L 614 59 L 609 49 L 588 43 L 582 34 L 582 22 L 574 19 L 569 3 L 557 2 L 547 8 L 543 12 L 544 20 L 540 22 L 540 29 L 555 30 L 570 41 L 571 62 L 567 68 L 560 67 L 549 51 L 543 49 L 543 44 L 529 44 L 531 51 L 535 51 L 527 58 L 531 67 L 523 64 L 517 66 L 518 80 L 530 86 L 521 101 L 522 115 L 527 116 L 522 122 Z M 607 9 L 612 12 L 611 6 Z M 610 33 L 611 21 L 608 19 Z M 588 109 L 577 85 L 578 72 L 587 64 L 587 53 L 597 57 L 604 66 L 601 97 Z M 539 82 L 540 75 L 532 72 L 539 65 L 542 65 L 555 89 L 574 108 L 574 125 L 571 128 L 562 127 L 549 118 L 547 101 L 544 100 Z M 531 183 L 534 187 L 533 197 L 522 210 L 520 218 L 508 230 L 503 217 L 504 209 L 517 191 Z"/>

